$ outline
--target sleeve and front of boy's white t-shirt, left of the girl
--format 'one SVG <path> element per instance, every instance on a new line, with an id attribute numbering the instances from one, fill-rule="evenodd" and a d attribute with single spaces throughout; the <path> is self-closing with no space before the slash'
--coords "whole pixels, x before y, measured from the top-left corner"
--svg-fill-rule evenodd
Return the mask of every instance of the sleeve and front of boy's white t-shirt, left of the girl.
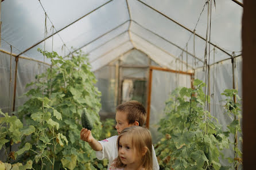
<path id="1" fill-rule="evenodd" d="M 96 151 L 96 157 L 99 160 L 107 159 L 108 167 L 112 164 L 114 159 L 118 157 L 117 138 L 118 136 L 112 136 L 99 141 L 99 143 L 102 145 L 102 151 Z"/>

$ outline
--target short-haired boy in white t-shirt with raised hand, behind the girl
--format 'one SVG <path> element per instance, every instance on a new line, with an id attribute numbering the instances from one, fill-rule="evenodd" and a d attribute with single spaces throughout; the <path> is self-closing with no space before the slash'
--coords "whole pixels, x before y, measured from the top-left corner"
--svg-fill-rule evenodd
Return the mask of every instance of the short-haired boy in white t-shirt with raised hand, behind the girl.
<path id="1" fill-rule="evenodd" d="M 115 113 L 115 120 L 117 125 L 118 135 L 123 129 L 130 126 L 142 126 L 146 121 L 146 110 L 141 103 L 138 101 L 127 101 L 117 106 L 117 113 Z M 117 139 L 118 136 L 112 136 L 102 141 L 97 141 L 91 135 L 91 131 L 82 129 L 80 132 L 80 139 L 89 143 L 92 149 L 96 151 L 96 157 L 99 160 L 104 158 L 108 159 L 108 168 L 112 164 L 113 160 L 118 157 Z M 153 170 L 158 170 L 159 165 L 157 162 L 156 153 L 152 145 L 152 156 L 153 156 Z"/>

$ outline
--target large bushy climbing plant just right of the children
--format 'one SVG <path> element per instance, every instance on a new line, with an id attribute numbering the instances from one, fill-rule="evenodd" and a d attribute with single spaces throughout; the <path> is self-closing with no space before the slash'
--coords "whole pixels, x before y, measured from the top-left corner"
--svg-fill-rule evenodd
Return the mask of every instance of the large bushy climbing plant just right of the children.
<path id="1" fill-rule="evenodd" d="M 194 88 L 178 88 L 166 101 L 166 117 L 160 120 L 165 138 L 156 145 L 161 169 L 220 169 L 220 150 L 229 146 L 218 120 L 204 110 L 200 80 Z"/>

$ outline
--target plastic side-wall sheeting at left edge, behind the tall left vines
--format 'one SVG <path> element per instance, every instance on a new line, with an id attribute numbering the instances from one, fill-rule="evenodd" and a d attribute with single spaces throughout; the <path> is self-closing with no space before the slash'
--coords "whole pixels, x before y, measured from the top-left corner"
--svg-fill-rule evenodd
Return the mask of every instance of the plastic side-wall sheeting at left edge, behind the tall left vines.
<path id="1" fill-rule="evenodd" d="M 0 52 L 0 108 L 2 112 L 13 111 L 13 97 L 14 97 L 14 80 L 15 80 L 15 57 L 11 59 L 11 83 L 10 82 L 10 55 Z M 45 69 L 49 68 L 45 65 Z M 17 81 L 16 81 L 16 95 L 15 95 L 15 110 L 18 106 L 24 104 L 28 97 L 23 96 L 29 88 L 25 88 L 26 84 L 36 81 L 36 75 L 43 73 L 44 65 L 40 62 L 26 60 L 19 58 L 17 67 Z M 10 97 L 9 97 L 10 88 Z M 23 97 L 22 97 L 23 96 Z"/>

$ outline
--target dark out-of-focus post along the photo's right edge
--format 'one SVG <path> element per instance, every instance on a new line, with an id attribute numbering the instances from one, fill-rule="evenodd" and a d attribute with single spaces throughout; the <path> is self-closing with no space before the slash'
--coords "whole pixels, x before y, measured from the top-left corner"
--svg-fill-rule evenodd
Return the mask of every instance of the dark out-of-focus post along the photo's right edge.
<path id="1" fill-rule="evenodd" d="M 243 170 L 255 169 L 256 153 L 256 1 L 243 1 Z"/>

